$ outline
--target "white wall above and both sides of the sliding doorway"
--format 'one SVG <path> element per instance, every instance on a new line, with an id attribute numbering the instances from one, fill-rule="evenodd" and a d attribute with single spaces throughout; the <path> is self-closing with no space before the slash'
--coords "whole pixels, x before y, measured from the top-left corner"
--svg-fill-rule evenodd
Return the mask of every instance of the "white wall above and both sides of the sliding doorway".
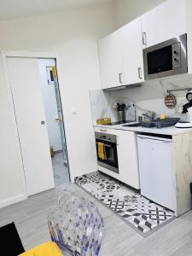
<path id="1" fill-rule="evenodd" d="M 61 55 L 61 98 L 72 178 L 96 170 L 89 89 L 100 88 L 97 40 L 112 31 L 113 16 L 109 4 L 0 22 L 0 49 L 56 52 Z M 19 196 L 23 189 L 3 81 L 0 98 L 0 201 L 4 201 Z M 72 114 L 73 108 L 77 111 L 76 115 Z"/>

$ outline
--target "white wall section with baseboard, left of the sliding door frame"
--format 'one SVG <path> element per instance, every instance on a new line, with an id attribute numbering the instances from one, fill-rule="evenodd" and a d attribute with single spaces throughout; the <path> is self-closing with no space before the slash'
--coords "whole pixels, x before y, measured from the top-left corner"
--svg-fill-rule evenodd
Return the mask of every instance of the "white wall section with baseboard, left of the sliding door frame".
<path id="1" fill-rule="evenodd" d="M 16 151 L 9 99 L 0 59 L 0 207 L 25 198 L 20 176 L 20 160 Z"/>

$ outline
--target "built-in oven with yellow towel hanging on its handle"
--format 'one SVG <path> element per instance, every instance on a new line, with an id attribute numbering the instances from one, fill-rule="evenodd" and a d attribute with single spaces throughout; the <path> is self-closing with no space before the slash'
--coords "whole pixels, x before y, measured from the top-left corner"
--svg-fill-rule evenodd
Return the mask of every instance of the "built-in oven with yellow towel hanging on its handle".
<path id="1" fill-rule="evenodd" d="M 112 172 L 119 173 L 116 135 L 102 132 L 96 132 L 95 135 L 98 165 Z M 100 152 L 101 148 L 102 157 Z"/>

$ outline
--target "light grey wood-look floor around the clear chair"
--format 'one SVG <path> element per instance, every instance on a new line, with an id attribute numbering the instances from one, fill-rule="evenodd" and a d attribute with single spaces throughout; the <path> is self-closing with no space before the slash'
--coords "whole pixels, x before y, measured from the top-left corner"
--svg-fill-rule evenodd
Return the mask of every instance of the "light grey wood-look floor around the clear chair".
<path id="1" fill-rule="evenodd" d="M 192 255 L 191 211 L 144 238 L 77 185 L 66 183 L 60 189 L 64 187 L 71 191 L 78 190 L 80 194 L 92 199 L 102 212 L 105 235 L 100 256 Z M 0 225 L 15 221 L 26 249 L 49 241 L 47 213 L 58 195 L 59 189 L 51 189 L 26 201 L 0 209 Z"/>

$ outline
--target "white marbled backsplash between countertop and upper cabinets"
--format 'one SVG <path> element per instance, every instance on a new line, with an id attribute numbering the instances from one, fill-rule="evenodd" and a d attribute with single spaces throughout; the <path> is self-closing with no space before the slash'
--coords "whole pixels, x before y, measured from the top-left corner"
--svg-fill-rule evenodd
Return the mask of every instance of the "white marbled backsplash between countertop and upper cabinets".
<path id="1" fill-rule="evenodd" d="M 166 108 L 164 98 L 167 95 L 166 90 L 186 87 L 192 88 L 191 75 L 176 76 L 171 79 L 151 80 L 139 87 L 132 87 L 125 90 L 90 90 L 93 123 L 96 123 L 96 119 L 104 117 L 111 117 L 113 121 L 116 121 L 117 112 L 113 109 L 115 102 L 135 103 L 137 116 L 141 115 L 146 110 L 154 111 L 157 116 L 161 113 L 170 117 L 181 116 L 178 110 L 187 102 L 185 98 L 186 91 L 172 92 L 172 94 L 177 97 L 177 105 L 172 109 Z"/>

